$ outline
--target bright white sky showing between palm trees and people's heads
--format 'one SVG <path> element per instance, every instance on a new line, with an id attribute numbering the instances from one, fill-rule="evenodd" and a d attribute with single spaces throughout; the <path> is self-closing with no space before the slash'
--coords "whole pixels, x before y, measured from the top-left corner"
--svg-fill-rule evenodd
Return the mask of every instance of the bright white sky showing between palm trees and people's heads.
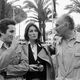
<path id="1" fill-rule="evenodd" d="M 11 1 L 11 0 L 9 0 L 9 1 Z M 23 4 L 22 4 L 23 1 L 24 0 L 20 0 L 18 3 L 16 3 L 16 5 L 21 4 L 23 6 Z M 70 0 L 57 0 L 57 2 L 58 2 L 58 4 L 56 7 L 56 10 L 57 10 L 58 17 L 60 17 L 61 15 L 68 12 L 68 10 L 64 10 L 64 8 L 66 5 L 70 4 L 71 2 L 70 2 Z M 80 14 L 72 13 L 70 16 L 74 19 L 75 25 L 80 24 Z M 21 38 L 23 38 L 25 26 L 26 26 L 25 21 L 16 25 L 16 35 L 19 35 L 19 31 L 20 31 Z M 19 30 L 19 27 L 20 27 L 20 30 Z M 52 23 L 46 24 L 46 31 L 49 31 L 52 28 L 53 28 Z"/>

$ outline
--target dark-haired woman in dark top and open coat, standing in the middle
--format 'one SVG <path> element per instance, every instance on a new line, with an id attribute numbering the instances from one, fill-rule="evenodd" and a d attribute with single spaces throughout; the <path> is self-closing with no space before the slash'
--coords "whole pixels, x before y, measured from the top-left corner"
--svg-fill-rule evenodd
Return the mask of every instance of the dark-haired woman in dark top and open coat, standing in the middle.
<path id="1" fill-rule="evenodd" d="M 54 68 L 49 51 L 41 45 L 41 32 L 38 27 L 29 23 L 24 34 L 26 44 L 23 45 L 29 60 L 29 71 L 26 80 L 54 80 Z"/>

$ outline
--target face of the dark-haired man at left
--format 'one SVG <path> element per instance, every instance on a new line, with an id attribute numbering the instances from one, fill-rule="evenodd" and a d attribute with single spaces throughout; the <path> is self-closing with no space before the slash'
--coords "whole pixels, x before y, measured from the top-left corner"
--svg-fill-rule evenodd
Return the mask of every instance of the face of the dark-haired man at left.
<path id="1" fill-rule="evenodd" d="M 2 33 L 4 42 L 12 42 L 13 38 L 15 37 L 15 29 L 16 28 L 14 25 L 8 25 L 6 33 Z"/>

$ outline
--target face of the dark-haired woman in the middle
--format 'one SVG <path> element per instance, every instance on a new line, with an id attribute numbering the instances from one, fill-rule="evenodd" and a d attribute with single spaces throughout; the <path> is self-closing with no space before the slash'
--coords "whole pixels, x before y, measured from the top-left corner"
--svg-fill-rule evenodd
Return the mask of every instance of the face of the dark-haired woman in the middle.
<path id="1" fill-rule="evenodd" d="M 35 41 L 36 39 L 38 39 L 38 31 L 34 26 L 31 26 L 29 28 L 28 37 L 29 37 L 29 40 L 31 41 Z"/>

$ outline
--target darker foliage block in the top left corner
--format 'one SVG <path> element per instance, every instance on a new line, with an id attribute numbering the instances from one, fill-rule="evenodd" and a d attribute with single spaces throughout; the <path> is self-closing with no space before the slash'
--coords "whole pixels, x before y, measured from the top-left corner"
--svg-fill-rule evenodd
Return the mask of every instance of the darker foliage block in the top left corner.
<path id="1" fill-rule="evenodd" d="M 7 0 L 0 0 L 0 19 L 11 18 L 11 12 L 12 7 L 7 3 Z"/>

